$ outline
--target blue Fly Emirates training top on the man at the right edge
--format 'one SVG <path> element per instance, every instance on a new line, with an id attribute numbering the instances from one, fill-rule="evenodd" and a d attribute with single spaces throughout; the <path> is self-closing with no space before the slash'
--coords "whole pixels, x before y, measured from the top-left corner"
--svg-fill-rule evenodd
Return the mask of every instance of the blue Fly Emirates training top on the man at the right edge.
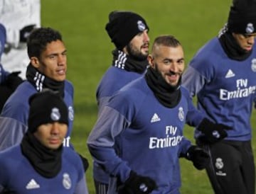
<path id="1" fill-rule="evenodd" d="M 182 77 L 183 86 L 198 98 L 198 109 L 207 118 L 232 127 L 227 140 L 252 137 L 250 115 L 256 101 L 256 45 L 245 60 L 230 59 L 218 38 L 213 38 L 193 57 Z M 196 130 L 195 137 L 201 135 Z"/>

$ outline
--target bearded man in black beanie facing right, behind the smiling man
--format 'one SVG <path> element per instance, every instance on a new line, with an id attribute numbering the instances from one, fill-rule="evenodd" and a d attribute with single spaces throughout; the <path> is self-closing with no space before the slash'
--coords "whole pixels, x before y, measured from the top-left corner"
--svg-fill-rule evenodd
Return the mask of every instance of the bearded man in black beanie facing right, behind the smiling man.
<path id="1" fill-rule="evenodd" d="M 142 16 L 132 11 L 112 11 L 105 29 L 115 49 L 112 66 L 97 87 L 99 115 L 113 93 L 142 76 L 149 65 L 149 26 Z M 96 194 L 107 193 L 109 176 L 96 162 L 93 177 Z"/>

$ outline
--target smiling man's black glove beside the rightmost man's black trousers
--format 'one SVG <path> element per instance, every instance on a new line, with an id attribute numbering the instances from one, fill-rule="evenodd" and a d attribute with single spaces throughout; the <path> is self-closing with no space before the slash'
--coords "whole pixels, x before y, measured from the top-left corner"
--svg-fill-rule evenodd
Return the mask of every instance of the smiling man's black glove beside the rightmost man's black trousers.
<path id="1" fill-rule="evenodd" d="M 191 146 L 186 152 L 186 159 L 193 162 L 193 166 L 198 170 L 203 170 L 210 162 L 209 154 L 198 146 Z"/>

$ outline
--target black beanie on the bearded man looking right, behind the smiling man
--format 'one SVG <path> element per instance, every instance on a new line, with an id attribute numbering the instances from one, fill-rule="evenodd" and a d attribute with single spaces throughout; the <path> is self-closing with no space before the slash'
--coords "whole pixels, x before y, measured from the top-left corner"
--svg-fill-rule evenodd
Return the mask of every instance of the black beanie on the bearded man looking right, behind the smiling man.
<path id="1" fill-rule="evenodd" d="M 149 30 L 142 16 L 130 11 L 112 11 L 105 29 L 118 50 L 122 50 L 138 33 Z"/>

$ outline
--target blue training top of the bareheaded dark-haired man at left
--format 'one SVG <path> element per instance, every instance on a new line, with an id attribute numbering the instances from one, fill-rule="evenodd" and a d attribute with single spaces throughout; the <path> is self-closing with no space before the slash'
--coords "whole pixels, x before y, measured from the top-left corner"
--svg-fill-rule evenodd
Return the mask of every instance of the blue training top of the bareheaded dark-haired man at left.
<path id="1" fill-rule="evenodd" d="M 21 142 L 28 129 L 28 99 L 36 92 L 36 88 L 31 83 L 24 81 L 6 101 L 0 115 L 0 150 Z M 69 81 L 65 81 L 64 101 L 68 107 L 69 125 L 63 142 L 64 147 L 70 147 L 74 119 L 73 92 L 73 85 Z"/>

